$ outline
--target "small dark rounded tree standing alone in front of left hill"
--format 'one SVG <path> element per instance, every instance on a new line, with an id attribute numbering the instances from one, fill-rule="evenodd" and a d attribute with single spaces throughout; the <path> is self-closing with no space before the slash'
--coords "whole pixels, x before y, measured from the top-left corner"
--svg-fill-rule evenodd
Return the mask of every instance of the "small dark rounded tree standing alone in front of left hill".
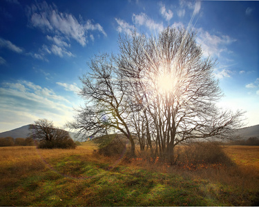
<path id="1" fill-rule="evenodd" d="M 75 143 L 66 130 L 55 128 L 52 121 L 39 119 L 30 124 L 30 137 L 41 141 L 41 148 L 75 148 Z"/>

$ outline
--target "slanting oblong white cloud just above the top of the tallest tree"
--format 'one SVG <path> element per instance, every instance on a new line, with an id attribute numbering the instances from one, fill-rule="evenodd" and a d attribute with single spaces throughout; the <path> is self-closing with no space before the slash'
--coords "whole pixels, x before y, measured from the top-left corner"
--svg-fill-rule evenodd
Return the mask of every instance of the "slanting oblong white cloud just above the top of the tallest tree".
<path id="1" fill-rule="evenodd" d="M 141 14 L 133 14 L 132 19 L 133 23 L 140 26 L 146 26 L 149 30 L 160 32 L 164 29 L 163 23 L 156 23 L 153 19 L 148 18 L 143 12 Z"/>

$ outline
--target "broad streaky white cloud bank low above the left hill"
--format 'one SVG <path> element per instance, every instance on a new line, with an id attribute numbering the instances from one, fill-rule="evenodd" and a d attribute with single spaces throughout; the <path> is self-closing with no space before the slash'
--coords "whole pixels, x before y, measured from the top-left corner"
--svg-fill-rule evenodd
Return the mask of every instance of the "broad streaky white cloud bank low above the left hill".
<path id="1" fill-rule="evenodd" d="M 56 95 L 50 88 L 41 87 L 30 81 L 3 83 L 0 87 L 0 125 L 8 123 L 20 126 L 33 123 L 39 118 L 52 119 L 60 124 L 73 117 L 71 103 Z M 59 126 L 60 126 L 59 124 Z"/>

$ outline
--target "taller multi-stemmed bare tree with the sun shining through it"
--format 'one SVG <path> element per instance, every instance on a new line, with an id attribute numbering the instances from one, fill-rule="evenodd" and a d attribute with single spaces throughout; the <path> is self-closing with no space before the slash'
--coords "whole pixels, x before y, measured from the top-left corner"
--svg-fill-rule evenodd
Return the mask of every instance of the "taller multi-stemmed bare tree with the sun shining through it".
<path id="1" fill-rule="evenodd" d="M 202 57 L 195 32 L 166 28 L 159 37 L 134 33 L 119 39 L 119 70 L 129 91 L 142 99 L 141 113 L 152 117 L 159 155 L 173 164 L 176 145 L 227 139 L 240 127 L 243 112 L 224 112 L 213 75 L 215 61 Z M 148 120 L 148 119 L 146 119 Z"/>

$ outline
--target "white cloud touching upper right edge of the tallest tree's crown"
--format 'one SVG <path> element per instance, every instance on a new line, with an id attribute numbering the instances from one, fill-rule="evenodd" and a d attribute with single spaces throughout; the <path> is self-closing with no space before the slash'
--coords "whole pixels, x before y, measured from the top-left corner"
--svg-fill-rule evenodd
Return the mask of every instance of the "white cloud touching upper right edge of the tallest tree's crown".
<path id="1" fill-rule="evenodd" d="M 202 28 L 198 29 L 198 37 L 196 40 L 197 43 L 201 45 L 205 57 L 209 57 L 210 55 L 220 57 L 222 52 L 230 52 L 227 49 L 227 45 L 236 41 L 236 39 L 227 35 L 217 36 L 215 34 L 209 34 L 209 32 L 204 31 Z"/>

